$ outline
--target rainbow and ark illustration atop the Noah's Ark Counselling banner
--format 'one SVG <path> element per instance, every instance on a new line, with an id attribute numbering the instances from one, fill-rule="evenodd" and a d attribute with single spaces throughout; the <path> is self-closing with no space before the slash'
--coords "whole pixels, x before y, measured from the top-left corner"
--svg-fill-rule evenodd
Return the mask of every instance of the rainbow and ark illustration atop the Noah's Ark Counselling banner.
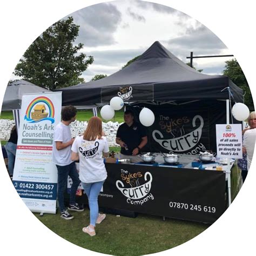
<path id="1" fill-rule="evenodd" d="M 49 120 L 53 124 L 54 115 L 55 110 L 51 100 L 47 97 L 37 97 L 28 105 L 24 119 L 29 123 Z"/>

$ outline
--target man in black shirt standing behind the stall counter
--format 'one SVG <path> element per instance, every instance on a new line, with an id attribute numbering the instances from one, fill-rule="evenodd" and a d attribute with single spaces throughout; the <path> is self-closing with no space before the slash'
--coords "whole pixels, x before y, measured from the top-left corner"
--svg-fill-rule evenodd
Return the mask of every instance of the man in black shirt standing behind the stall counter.
<path id="1" fill-rule="evenodd" d="M 132 163 L 141 161 L 139 151 L 147 144 L 145 128 L 134 122 L 133 113 L 124 112 L 124 122 L 117 130 L 116 143 L 121 146 L 121 159 L 131 159 Z"/>

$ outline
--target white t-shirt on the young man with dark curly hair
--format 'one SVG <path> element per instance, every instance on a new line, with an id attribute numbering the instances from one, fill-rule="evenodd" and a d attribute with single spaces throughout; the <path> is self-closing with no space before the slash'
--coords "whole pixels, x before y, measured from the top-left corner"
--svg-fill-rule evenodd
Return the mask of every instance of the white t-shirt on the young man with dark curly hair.
<path id="1" fill-rule="evenodd" d="M 71 145 L 65 147 L 65 149 L 57 150 L 56 142 L 66 143 L 71 140 L 70 126 L 65 125 L 62 122 L 56 125 L 54 130 L 53 145 L 52 145 L 52 162 L 65 166 L 72 163 L 71 161 Z"/>

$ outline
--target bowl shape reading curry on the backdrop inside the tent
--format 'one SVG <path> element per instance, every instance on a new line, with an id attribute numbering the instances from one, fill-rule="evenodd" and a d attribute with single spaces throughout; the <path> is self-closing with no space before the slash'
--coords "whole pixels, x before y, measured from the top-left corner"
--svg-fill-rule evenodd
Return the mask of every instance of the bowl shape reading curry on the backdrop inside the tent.
<path id="1" fill-rule="evenodd" d="M 160 131 L 154 130 L 152 132 L 152 137 L 161 147 L 166 150 L 177 153 L 186 152 L 193 149 L 193 147 L 198 144 L 201 138 L 202 129 L 204 126 L 204 119 L 199 115 L 194 116 L 192 120 L 193 127 L 196 127 L 197 119 L 199 119 L 200 121 L 199 127 L 197 127 L 194 131 L 190 133 L 183 134 L 182 136 L 173 139 L 165 139 Z"/>

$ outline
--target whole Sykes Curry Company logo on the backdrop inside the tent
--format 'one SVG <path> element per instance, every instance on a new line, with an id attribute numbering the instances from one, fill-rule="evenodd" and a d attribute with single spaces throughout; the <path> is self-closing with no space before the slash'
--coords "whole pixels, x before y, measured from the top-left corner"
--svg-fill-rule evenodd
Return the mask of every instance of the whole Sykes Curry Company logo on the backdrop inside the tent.
<path id="1" fill-rule="evenodd" d="M 192 119 L 192 126 L 194 130 L 186 133 L 184 130 L 184 124 L 190 122 L 191 121 L 188 117 L 170 119 L 169 117 L 160 116 L 160 129 L 165 130 L 165 133 L 169 133 L 172 138 L 164 138 L 163 133 L 158 130 L 154 130 L 152 132 L 153 139 L 156 140 L 161 147 L 170 152 L 187 152 L 195 146 L 198 146 L 198 151 L 201 151 L 205 149 L 203 144 L 199 144 L 204 120 L 199 115 L 194 116 Z M 191 151 L 191 153 L 197 152 Z"/>

